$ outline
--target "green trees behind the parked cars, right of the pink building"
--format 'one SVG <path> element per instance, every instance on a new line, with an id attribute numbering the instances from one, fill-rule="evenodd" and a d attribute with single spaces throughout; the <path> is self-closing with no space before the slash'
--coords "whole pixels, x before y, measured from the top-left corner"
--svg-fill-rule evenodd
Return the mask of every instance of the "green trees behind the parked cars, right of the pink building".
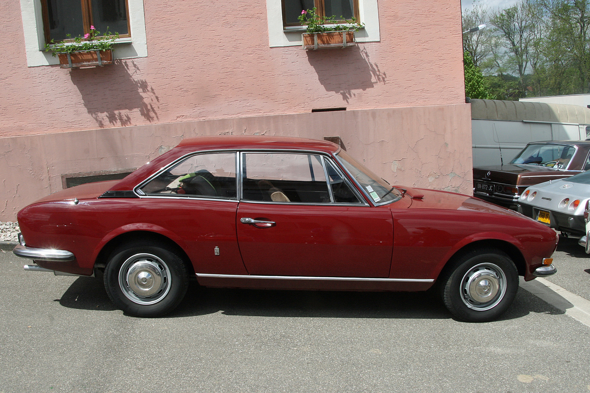
<path id="1" fill-rule="evenodd" d="M 463 47 L 477 59 L 488 94 L 517 100 L 590 92 L 590 0 L 520 0 L 495 11 L 476 6 L 463 16 L 463 31 L 478 24 L 489 25 L 487 32 L 463 37 Z M 467 77 L 466 65 L 466 90 L 473 85 Z"/>

